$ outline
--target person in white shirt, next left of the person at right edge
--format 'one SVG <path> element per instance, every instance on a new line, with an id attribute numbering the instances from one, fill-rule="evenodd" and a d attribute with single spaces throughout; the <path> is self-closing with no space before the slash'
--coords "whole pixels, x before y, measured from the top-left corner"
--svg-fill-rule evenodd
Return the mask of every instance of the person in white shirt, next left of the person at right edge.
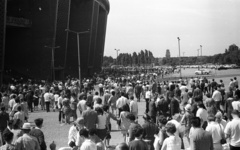
<path id="1" fill-rule="evenodd" d="M 208 116 L 208 126 L 206 131 L 210 132 L 213 139 L 213 149 L 214 150 L 223 150 L 222 141 L 224 138 L 223 126 L 216 122 L 216 117 L 214 115 Z"/>

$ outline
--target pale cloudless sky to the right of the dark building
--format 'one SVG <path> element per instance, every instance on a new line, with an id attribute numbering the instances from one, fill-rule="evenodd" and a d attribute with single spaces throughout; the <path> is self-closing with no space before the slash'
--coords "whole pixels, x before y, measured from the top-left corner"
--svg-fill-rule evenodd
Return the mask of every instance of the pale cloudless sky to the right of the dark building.
<path id="1" fill-rule="evenodd" d="M 154 57 L 224 53 L 240 47 L 240 0 L 109 0 L 105 56 L 152 51 Z M 200 53 L 200 52 L 199 52 Z"/>

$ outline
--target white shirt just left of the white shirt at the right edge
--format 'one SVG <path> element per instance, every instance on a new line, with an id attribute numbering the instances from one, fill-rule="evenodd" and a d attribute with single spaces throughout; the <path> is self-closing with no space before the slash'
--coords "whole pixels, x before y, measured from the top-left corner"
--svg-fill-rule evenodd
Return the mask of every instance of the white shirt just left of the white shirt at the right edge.
<path id="1" fill-rule="evenodd" d="M 222 139 L 222 136 L 224 134 L 223 126 L 221 124 L 211 121 L 208 123 L 206 131 L 212 134 L 213 144 L 220 143 L 220 140 Z"/>

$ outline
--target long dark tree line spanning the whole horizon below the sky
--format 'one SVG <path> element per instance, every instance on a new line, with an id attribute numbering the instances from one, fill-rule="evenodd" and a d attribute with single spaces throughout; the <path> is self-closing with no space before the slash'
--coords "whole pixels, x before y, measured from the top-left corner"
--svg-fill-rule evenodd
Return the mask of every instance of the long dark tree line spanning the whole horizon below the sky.
<path id="1" fill-rule="evenodd" d="M 160 61 L 159 61 L 160 60 Z M 141 50 L 139 53 L 133 52 L 133 54 L 120 53 L 117 61 L 111 56 L 103 57 L 103 66 L 111 65 L 123 65 L 123 66 L 144 66 L 155 63 L 155 65 L 171 65 L 176 66 L 179 64 L 178 57 L 171 58 L 154 58 L 153 54 L 149 50 Z M 240 66 L 240 49 L 237 45 L 232 44 L 225 50 L 225 53 L 216 54 L 213 56 L 201 56 L 201 57 L 181 57 L 181 65 L 199 65 L 199 64 L 237 64 Z"/>

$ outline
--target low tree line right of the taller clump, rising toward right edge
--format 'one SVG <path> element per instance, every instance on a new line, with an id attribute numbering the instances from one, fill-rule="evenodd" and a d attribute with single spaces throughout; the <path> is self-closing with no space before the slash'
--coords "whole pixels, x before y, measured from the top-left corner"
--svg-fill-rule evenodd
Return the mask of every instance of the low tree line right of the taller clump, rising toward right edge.
<path id="1" fill-rule="evenodd" d="M 181 57 L 181 65 L 199 65 L 208 63 L 240 65 L 240 49 L 237 45 L 232 44 L 223 54 L 201 57 Z M 175 66 L 179 64 L 179 58 L 163 58 L 161 64 Z"/>

